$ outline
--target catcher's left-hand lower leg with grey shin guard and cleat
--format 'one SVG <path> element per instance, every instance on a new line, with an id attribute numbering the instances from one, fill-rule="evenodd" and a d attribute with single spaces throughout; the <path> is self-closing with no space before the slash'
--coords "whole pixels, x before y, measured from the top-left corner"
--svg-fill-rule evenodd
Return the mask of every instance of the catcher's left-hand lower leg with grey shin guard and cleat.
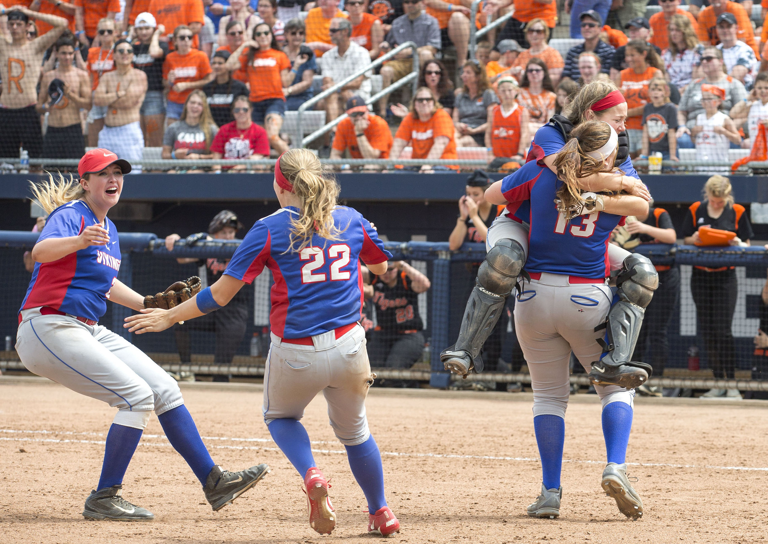
<path id="1" fill-rule="evenodd" d="M 522 246 L 508 238 L 499 240 L 485 256 L 467 301 L 458 340 L 440 354 L 445 370 L 465 378 L 473 368 L 482 371 L 480 350 L 502 315 L 524 263 Z"/>

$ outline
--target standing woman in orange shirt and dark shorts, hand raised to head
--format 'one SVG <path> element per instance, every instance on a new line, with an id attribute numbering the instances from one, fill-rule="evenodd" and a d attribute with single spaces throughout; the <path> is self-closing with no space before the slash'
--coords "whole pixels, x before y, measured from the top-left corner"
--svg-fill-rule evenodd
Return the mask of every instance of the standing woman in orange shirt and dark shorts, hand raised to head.
<path id="1" fill-rule="evenodd" d="M 247 71 L 253 122 L 264 124 L 270 145 L 278 153 L 287 151 L 288 144 L 280 138 L 286 110 L 283 88 L 293 83 L 294 74 L 288 55 L 277 47 L 270 25 L 256 25 L 253 39 L 244 41 L 224 66 L 228 70 L 242 67 Z"/>

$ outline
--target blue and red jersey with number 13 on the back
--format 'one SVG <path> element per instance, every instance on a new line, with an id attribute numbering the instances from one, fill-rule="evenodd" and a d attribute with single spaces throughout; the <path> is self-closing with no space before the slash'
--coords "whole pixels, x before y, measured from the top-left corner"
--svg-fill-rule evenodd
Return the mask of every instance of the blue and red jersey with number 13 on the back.
<path id="1" fill-rule="evenodd" d="M 567 221 L 554 203 L 555 192 L 562 183 L 547 166 L 535 162 L 525 163 L 502 180 L 502 194 L 509 203 L 508 209 L 531 225 L 525 269 L 605 278 L 611 273 L 608 239 L 617 225 L 624 225 L 624 217 L 594 212 Z M 528 202 L 528 217 L 520 217 L 518 204 Z"/>

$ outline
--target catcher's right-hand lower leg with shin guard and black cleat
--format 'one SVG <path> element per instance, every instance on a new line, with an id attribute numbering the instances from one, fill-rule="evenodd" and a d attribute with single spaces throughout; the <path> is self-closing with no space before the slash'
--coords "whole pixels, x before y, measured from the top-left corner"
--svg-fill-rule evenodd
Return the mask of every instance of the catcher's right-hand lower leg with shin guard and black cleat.
<path id="1" fill-rule="evenodd" d="M 631 361 L 631 357 L 645 308 L 659 285 L 659 276 L 650 259 L 633 253 L 624 259 L 616 285 L 619 301 L 611 307 L 604 325 L 595 328 L 595 331 L 606 328 L 607 342 L 598 340 L 605 356 L 592 363 L 589 378 L 594 384 L 632 389 L 644 384 L 653 373 L 650 364 Z"/>

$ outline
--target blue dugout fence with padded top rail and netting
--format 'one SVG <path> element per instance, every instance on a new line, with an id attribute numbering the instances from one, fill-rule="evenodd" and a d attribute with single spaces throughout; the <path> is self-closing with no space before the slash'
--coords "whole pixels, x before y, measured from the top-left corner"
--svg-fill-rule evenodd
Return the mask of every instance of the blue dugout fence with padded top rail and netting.
<path id="1" fill-rule="evenodd" d="M 37 237 L 32 232 L 0 231 L 0 270 L 6 279 L 0 289 L 0 335 L 5 338 L 5 349 L 0 354 L 0 368 L 4 371 L 23 370 L 13 345 L 18 325 L 18 308 L 31 279 L 30 272 L 25 269 L 24 256 L 34 246 Z M 203 267 L 215 262 L 219 266 L 223 265 L 240 244 L 240 240 L 200 240 L 194 246 L 188 246 L 182 239 L 177 242 L 173 252 L 168 252 L 163 239 L 151 233 L 135 232 L 121 234 L 120 242 L 123 255 L 118 279 L 142 294 L 161 291 L 177 279 L 190 275 L 204 277 Z M 394 259 L 405 259 L 427 275 L 431 287 L 419 295 L 416 303 L 423 321 L 424 344 L 415 364 L 409 368 L 379 367 L 376 373 L 379 378 L 387 381 L 429 381 L 432 387 L 448 387 L 457 378 L 445 373 L 439 353 L 451 345 L 458 335 L 477 265 L 485 258 L 485 247 L 482 244 L 465 244 L 455 252 L 449 251 L 447 242 L 386 242 L 386 247 Z M 671 318 L 667 328 L 669 346 L 664 376 L 654 375 L 650 383 L 690 389 L 717 387 L 768 391 L 768 367 L 763 362 L 768 361 L 768 351 L 756 349 L 753 343 L 760 328 L 760 295 L 766 284 L 768 252 L 763 247 L 706 249 L 662 244 L 638 246 L 636 251 L 649 256 L 655 265 L 677 267 L 680 270 L 677 302 L 673 300 L 670 303 Z M 187 259 L 188 262 L 177 262 L 177 259 Z M 723 328 L 730 327 L 733 333 L 736 370 L 730 379 L 716 377 L 710 368 L 707 338 L 699 330 L 697 307 L 691 292 L 691 278 L 694 276 L 695 282 L 696 266 L 735 267 L 738 289 L 733 320 L 721 324 Z M 179 334 L 177 328 L 157 334 L 132 335 L 122 327 L 123 319 L 131 314 L 131 310 L 114 304 L 108 305 L 107 313 L 100 323 L 151 354 L 157 364 L 161 364 L 167 371 L 258 377 L 263 375 L 264 357 L 269 346 L 271 284 L 271 276 L 265 270 L 253 285 L 243 288 L 240 305 L 245 308 L 244 314 L 234 318 L 234 321 L 244 321 L 244 331 L 240 333 L 234 330 L 237 327 L 228 324 L 233 321 L 225 320 L 218 325 L 219 329 L 223 328 L 225 332 L 233 334 L 221 337 L 217 336 L 210 323 L 191 328 L 186 338 Z M 500 384 L 530 382 L 515 338 L 513 305 L 513 297 L 510 297 L 505 315 L 495 333 L 496 348 L 488 347 L 485 351 L 488 371 L 472 378 Z M 372 366 L 376 367 L 376 361 L 380 364 L 386 357 L 372 353 L 372 349 L 386 340 L 386 335 L 396 333 L 376 330 L 379 326 L 376 312 L 371 312 L 370 308 L 366 317 L 372 321 L 367 324 L 370 329 L 369 353 Z M 657 340 L 647 338 L 644 361 L 653 361 L 654 349 L 660 349 Z M 186 351 L 181 349 L 184 347 L 182 345 Z M 229 351 L 223 354 L 223 358 L 229 358 L 229 361 L 227 364 L 217 364 L 223 346 L 226 346 L 224 351 Z M 185 357 L 185 353 L 188 356 Z M 573 374 L 571 381 L 588 384 L 585 374 Z"/>

